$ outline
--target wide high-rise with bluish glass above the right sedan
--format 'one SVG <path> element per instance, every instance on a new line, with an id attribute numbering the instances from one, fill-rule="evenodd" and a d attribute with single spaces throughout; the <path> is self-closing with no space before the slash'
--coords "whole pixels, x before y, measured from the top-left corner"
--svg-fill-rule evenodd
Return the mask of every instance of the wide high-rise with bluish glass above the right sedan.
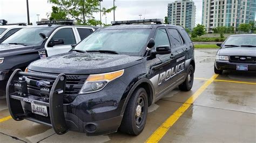
<path id="1" fill-rule="evenodd" d="M 202 24 L 207 32 L 218 26 L 233 26 L 254 22 L 256 0 L 203 0 Z"/>

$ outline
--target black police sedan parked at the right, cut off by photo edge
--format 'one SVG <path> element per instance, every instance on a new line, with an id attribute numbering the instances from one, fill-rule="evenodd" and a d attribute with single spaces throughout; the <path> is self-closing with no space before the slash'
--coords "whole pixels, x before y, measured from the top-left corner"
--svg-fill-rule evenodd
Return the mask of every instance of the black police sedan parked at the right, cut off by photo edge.
<path id="1" fill-rule="evenodd" d="M 228 37 L 217 52 L 214 72 L 223 70 L 256 71 L 256 34 L 238 34 Z"/>

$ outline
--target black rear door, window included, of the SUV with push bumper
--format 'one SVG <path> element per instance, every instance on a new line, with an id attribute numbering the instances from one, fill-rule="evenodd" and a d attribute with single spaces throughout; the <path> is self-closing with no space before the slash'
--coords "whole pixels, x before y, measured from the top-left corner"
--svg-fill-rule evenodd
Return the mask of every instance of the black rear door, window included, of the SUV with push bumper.
<path id="1" fill-rule="evenodd" d="M 185 61 L 187 59 L 187 46 L 181 37 L 179 30 L 176 28 L 168 28 L 170 35 L 171 45 L 172 45 L 172 55 L 171 58 L 176 62 L 176 81 L 181 82 L 184 80 L 185 71 Z"/>

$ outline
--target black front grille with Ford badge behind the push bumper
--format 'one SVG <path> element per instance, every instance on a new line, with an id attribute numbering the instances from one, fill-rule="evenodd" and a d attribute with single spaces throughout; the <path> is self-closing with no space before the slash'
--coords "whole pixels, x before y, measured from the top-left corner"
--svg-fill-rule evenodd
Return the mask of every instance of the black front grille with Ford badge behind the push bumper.
<path id="1" fill-rule="evenodd" d="M 57 74 L 48 74 L 48 73 L 39 73 L 35 71 L 28 71 L 29 73 L 35 73 L 35 74 L 43 74 L 43 75 L 57 75 Z M 64 98 L 69 98 L 70 96 L 77 96 L 80 89 L 83 87 L 84 82 L 86 81 L 86 78 L 88 75 L 66 75 L 66 88 L 64 92 Z M 49 79 L 42 79 L 37 77 L 26 77 L 27 80 L 27 86 L 28 86 L 28 94 L 44 97 L 40 91 L 40 88 L 37 87 L 36 82 L 37 81 L 49 81 L 53 84 L 54 80 Z M 29 82 L 28 82 L 29 81 Z M 64 99 L 65 101 L 65 99 Z M 68 99 L 70 101 L 70 99 Z"/>

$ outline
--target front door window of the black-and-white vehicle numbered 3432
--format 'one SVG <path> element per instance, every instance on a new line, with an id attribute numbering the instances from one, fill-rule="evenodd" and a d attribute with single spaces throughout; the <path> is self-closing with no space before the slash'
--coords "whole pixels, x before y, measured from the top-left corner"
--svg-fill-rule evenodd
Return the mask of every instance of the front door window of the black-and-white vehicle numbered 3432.
<path id="1" fill-rule="evenodd" d="M 72 28 L 62 28 L 58 30 L 50 41 L 53 41 L 54 39 L 62 39 L 64 41 L 64 45 L 76 44 L 76 39 Z"/>

